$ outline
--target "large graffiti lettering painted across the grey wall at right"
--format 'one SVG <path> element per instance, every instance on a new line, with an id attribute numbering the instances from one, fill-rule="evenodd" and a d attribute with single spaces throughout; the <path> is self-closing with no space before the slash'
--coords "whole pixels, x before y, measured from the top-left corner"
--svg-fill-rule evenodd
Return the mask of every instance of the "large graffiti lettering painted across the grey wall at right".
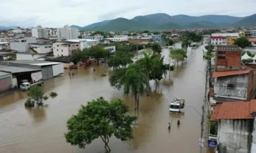
<path id="1" fill-rule="evenodd" d="M 232 97 L 246 97 L 246 89 L 232 89 L 226 87 L 217 88 L 216 94 L 223 96 L 232 96 Z"/>

